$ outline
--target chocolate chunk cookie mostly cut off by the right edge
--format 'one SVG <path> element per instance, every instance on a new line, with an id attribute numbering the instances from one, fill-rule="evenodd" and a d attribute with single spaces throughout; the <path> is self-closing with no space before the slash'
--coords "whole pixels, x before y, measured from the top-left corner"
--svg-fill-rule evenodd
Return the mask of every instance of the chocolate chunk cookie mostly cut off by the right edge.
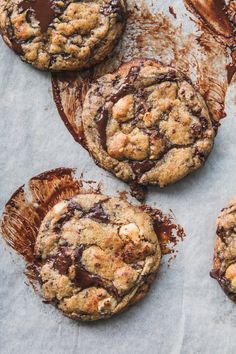
<path id="1" fill-rule="evenodd" d="M 236 302 L 236 198 L 217 219 L 214 262 L 211 276 Z"/>

